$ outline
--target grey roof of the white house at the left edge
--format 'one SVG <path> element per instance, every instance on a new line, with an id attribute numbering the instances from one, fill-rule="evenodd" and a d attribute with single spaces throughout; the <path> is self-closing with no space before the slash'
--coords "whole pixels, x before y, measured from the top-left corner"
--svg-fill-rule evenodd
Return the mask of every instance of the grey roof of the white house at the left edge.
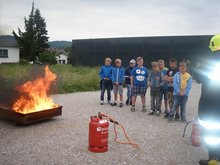
<path id="1" fill-rule="evenodd" d="M 0 47 L 19 47 L 19 46 L 13 36 L 2 35 L 0 36 Z"/>

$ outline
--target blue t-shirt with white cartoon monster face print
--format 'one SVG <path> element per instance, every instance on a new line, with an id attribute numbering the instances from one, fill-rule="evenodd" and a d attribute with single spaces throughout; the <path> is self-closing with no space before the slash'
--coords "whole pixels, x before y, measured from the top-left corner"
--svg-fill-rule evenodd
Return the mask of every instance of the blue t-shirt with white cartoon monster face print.
<path id="1" fill-rule="evenodd" d="M 145 67 L 139 68 L 138 66 L 133 68 L 131 76 L 134 77 L 134 86 L 147 86 L 148 70 Z"/>

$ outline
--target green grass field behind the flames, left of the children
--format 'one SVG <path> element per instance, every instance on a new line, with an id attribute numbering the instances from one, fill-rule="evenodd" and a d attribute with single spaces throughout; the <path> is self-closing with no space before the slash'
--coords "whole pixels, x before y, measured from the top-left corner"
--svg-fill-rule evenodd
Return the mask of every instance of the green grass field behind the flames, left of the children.
<path id="1" fill-rule="evenodd" d="M 27 81 L 33 77 L 33 70 L 36 73 L 41 69 L 35 65 L 1 64 L 0 77 L 13 82 Z M 99 90 L 99 67 L 52 65 L 50 69 L 57 75 L 55 93 Z"/>

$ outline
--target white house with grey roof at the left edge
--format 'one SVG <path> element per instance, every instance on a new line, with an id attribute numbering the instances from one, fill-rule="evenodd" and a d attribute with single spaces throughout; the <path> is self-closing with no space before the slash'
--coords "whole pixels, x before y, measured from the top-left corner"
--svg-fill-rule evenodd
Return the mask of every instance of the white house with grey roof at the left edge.
<path id="1" fill-rule="evenodd" d="M 0 36 L 0 64 L 19 62 L 19 46 L 13 36 Z"/>

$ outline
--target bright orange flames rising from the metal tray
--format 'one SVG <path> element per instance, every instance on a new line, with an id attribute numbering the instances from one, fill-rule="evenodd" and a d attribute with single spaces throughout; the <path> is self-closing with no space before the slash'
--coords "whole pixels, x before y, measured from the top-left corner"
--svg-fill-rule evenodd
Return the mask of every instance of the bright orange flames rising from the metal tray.
<path id="1" fill-rule="evenodd" d="M 16 90 L 22 95 L 14 103 L 12 109 L 16 112 L 27 114 L 58 107 L 57 104 L 53 103 L 53 99 L 47 95 L 51 83 L 55 80 L 56 75 L 46 66 L 44 77 L 38 77 L 34 81 L 27 81 L 23 85 L 16 87 Z"/>

